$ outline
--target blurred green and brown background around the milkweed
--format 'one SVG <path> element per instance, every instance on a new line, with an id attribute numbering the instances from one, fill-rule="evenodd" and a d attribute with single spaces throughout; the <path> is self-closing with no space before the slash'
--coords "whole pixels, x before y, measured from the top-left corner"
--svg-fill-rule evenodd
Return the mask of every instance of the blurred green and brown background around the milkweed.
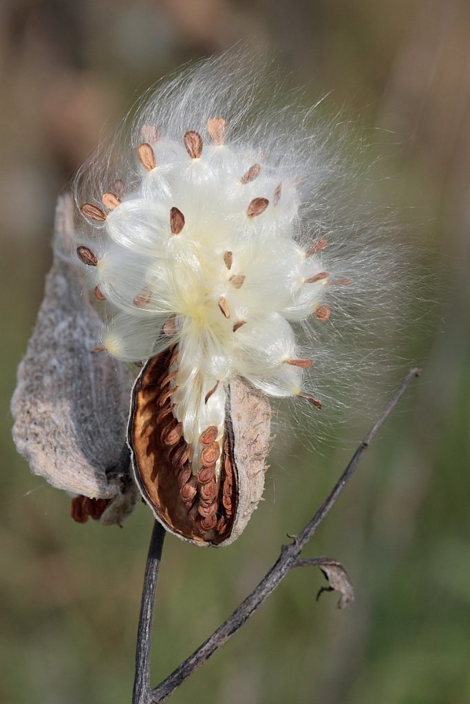
<path id="1" fill-rule="evenodd" d="M 142 89 L 241 37 L 273 51 L 292 84 L 307 84 L 308 100 L 331 91 L 330 106 L 380 128 L 371 134 L 377 153 L 388 142 L 384 191 L 419 246 L 432 315 L 416 320 L 416 334 L 411 326 L 404 349 L 423 366 L 421 380 L 305 553 L 345 563 L 354 605 L 335 610 L 328 594 L 316 604 L 321 574 L 292 572 L 173 701 L 470 701 L 468 1 L 4 0 L 2 703 L 130 702 L 152 523 L 143 505 L 123 530 L 73 523 L 68 498 L 33 477 L 11 441 L 9 400 L 51 262 L 56 194 Z M 277 451 L 266 501 L 232 547 L 167 539 L 154 684 L 252 589 L 368 426 L 358 413 L 337 445 L 307 453 L 293 441 Z"/>

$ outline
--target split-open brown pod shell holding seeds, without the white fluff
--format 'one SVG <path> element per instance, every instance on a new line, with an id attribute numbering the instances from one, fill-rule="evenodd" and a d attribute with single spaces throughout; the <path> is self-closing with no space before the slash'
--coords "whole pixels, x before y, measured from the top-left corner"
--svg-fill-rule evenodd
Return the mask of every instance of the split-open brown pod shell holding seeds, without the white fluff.
<path id="1" fill-rule="evenodd" d="M 128 427 L 135 480 L 173 535 L 225 546 L 245 529 L 263 493 L 269 402 L 235 378 L 226 389 L 225 421 L 205 429 L 192 448 L 171 401 L 177 360 L 175 346 L 149 360 L 135 382 Z"/>

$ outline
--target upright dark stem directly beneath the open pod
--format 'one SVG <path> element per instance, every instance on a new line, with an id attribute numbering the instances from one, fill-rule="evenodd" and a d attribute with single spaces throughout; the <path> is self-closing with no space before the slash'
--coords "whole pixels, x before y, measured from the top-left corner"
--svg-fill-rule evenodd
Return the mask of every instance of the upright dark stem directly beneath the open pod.
<path id="1" fill-rule="evenodd" d="M 150 655 L 151 627 L 154 620 L 156 580 L 159 576 L 161 551 L 165 539 L 165 529 L 158 521 L 154 522 L 151 532 L 147 564 L 145 565 L 144 586 L 140 604 L 139 629 L 137 631 L 137 648 L 135 651 L 135 679 L 132 692 L 132 704 L 151 702 L 150 691 Z"/>

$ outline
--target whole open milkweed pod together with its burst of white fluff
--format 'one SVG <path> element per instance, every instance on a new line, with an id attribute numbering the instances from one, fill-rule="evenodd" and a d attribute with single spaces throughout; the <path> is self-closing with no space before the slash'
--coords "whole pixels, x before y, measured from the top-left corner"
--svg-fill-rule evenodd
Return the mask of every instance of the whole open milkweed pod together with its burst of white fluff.
<path id="1" fill-rule="evenodd" d="M 337 197 L 335 138 L 275 109 L 256 78 L 236 54 L 185 70 L 76 182 L 77 254 L 105 308 L 96 351 L 144 365 L 136 482 L 200 545 L 240 534 L 261 497 L 268 399 L 321 408 L 321 327 L 336 313 L 344 334 L 390 265 Z"/>

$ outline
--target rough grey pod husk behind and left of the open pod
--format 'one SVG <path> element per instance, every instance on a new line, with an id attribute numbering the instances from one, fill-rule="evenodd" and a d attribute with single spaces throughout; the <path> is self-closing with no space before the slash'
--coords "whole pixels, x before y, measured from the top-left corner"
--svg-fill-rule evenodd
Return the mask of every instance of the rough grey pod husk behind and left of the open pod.
<path id="1" fill-rule="evenodd" d="M 18 367 L 13 440 L 32 472 L 52 486 L 129 508 L 135 493 L 106 471 L 120 462 L 132 379 L 125 365 L 91 353 L 101 321 L 83 295 L 82 274 L 68 263 L 73 241 L 72 201 L 63 196 L 44 300 Z M 126 510 L 121 505 L 117 513 Z"/>

